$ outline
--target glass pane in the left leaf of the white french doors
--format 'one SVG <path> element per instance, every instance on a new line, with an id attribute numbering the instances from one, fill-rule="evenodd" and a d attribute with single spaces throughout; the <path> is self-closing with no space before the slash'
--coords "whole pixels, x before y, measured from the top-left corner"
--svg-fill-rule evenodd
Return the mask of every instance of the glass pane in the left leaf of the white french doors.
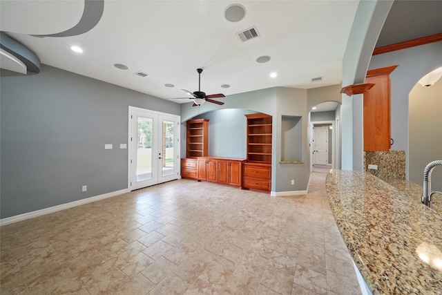
<path id="1" fill-rule="evenodd" d="M 137 120 L 137 182 L 152 179 L 153 119 Z"/>

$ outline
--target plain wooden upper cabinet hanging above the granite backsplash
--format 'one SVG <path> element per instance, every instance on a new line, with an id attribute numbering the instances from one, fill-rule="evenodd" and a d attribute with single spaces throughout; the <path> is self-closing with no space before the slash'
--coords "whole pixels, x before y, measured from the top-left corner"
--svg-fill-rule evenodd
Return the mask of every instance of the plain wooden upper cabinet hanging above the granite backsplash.
<path id="1" fill-rule="evenodd" d="M 390 73 L 396 67 L 387 66 L 367 71 L 365 83 L 374 86 L 364 93 L 364 151 L 390 150 Z"/>

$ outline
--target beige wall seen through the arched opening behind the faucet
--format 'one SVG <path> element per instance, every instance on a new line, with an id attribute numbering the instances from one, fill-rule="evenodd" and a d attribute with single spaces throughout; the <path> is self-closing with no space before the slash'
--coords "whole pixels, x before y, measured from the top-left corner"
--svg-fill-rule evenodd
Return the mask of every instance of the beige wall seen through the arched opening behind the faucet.
<path id="1" fill-rule="evenodd" d="M 410 92 L 410 181 L 422 185 L 425 166 L 442 160 L 441 126 L 442 79 L 430 87 L 416 84 Z M 442 191 L 442 166 L 434 169 L 431 180 L 432 190 Z"/>

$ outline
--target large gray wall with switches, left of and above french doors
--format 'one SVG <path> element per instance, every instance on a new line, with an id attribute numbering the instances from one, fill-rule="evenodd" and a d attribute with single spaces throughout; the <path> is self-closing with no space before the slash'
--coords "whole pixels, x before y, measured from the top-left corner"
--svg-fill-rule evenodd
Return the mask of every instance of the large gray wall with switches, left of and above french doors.
<path id="1" fill-rule="evenodd" d="M 126 189 L 128 106 L 180 115 L 179 104 L 46 65 L 3 71 L 0 86 L 0 218 Z"/>

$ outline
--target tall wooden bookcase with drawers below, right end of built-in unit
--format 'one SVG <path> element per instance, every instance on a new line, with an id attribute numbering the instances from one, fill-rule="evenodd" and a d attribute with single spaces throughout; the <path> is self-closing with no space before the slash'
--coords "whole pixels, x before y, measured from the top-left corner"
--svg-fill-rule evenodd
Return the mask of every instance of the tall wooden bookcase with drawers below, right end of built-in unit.
<path id="1" fill-rule="evenodd" d="M 243 165 L 242 187 L 271 191 L 272 117 L 263 113 L 247 117 L 247 162 Z"/>

